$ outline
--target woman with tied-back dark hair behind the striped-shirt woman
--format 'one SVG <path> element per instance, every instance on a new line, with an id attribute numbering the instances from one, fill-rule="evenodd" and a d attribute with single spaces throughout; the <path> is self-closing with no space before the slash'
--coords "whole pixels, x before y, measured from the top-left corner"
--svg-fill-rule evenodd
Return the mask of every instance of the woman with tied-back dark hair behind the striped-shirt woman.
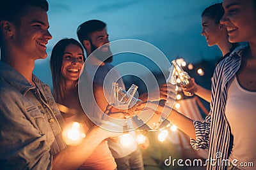
<path id="1" fill-rule="evenodd" d="M 228 32 L 225 25 L 220 24 L 220 20 L 223 17 L 224 9 L 222 3 L 212 4 L 211 6 L 205 8 L 202 17 L 202 36 L 205 36 L 208 46 L 217 45 L 220 48 L 223 57 L 216 63 L 216 65 L 223 60 L 225 57 L 229 56 L 230 53 L 239 46 L 239 43 L 230 43 L 228 41 Z M 193 85 L 189 84 L 189 88 L 182 87 L 182 90 L 186 96 L 193 96 L 193 93 L 207 102 L 211 102 L 211 90 L 205 89 L 200 85 L 195 83 L 193 80 Z"/>

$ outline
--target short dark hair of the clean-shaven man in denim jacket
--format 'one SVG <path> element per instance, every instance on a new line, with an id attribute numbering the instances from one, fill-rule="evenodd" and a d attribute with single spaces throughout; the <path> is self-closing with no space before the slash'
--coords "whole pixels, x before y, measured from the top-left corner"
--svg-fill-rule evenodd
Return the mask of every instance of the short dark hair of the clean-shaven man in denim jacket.
<path id="1" fill-rule="evenodd" d="M 8 20 L 19 24 L 20 18 L 26 14 L 28 6 L 38 6 L 48 11 L 49 5 L 46 0 L 3 0 L 0 3 L 0 21 Z"/>

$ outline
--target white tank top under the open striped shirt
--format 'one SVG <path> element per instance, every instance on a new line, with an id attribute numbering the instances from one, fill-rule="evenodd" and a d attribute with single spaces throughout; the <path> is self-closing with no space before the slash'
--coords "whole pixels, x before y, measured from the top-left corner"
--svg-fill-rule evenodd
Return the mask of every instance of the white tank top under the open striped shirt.
<path id="1" fill-rule="evenodd" d="M 229 160 L 237 159 L 237 165 L 253 162 L 256 168 L 256 92 L 243 89 L 234 76 L 228 87 L 225 115 L 234 136 Z M 245 164 L 244 164 L 245 165 Z"/>

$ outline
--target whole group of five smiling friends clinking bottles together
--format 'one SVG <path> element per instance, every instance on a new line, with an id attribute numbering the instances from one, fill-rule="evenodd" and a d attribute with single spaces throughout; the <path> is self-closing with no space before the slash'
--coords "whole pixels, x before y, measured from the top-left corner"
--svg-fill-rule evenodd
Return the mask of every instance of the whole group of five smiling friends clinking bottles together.
<path id="1" fill-rule="evenodd" d="M 108 107 L 104 91 L 109 89 L 104 89 L 104 78 L 113 69 L 113 56 L 106 23 L 88 20 L 77 28 L 79 41 L 66 38 L 54 45 L 50 60 L 52 95 L 49 86 L 33 74 L 35 60 L 47 57 L 46 45 L 52 38 L 47 1 L 10 0 L 0 6 L 0 169 L 144 169 L 138 145 L 122 147 L 115 141 L 120 133 L 95 125 L 80 103 L 79 74 L 87 69 L 88 81 L 94 82 L 95 101 L 102 111 Z M 136 110 L 147 107 L 155 114 L 168 115 L 168 121 L 188 134 L 195 150 L 209 150 L 209 160 L 220 159 L 221 153 L 221 160 L 236 163 L 209 161 L 207 169 L 253 169 L 242 166 L 243 162 L 256 166 L 255 18 L 255 0 L 223 0 L 202 13 L 202 36 L 209 46 L 217 45 L 223 57 L 216 64 L 211 90 L 195 80 L 182 90 L 187 96 L 193 91 L 210 103 L 204 122 L 152 101 L 168 97 L 168 84 L 159 86 L 156 99 L 141 94 L 136 104 Z M 93 53 L 97 48 L 99 52 Z M 84 50 L 90 56 L 85 68 Z M 100 53 L 108 59 L 102 60 Z M 91 75 L 90 69 L 96 66 L 97 72 Z M 111 76 L 117 80 L 120 75 L 116 71 Z M 118 85 L 124 87 L 122 78 Z M 84 89 L 85 94 L 86 90 L 90 89 Z M 86 111 L 94 113 L 94 108 L 88 103 Z M 134 116 L 127 113 L 116 111 L 109 116 Z M 78 145 L 67 146 L 61 132 L 72 122 L 83 126 L 86 137 Z"/>

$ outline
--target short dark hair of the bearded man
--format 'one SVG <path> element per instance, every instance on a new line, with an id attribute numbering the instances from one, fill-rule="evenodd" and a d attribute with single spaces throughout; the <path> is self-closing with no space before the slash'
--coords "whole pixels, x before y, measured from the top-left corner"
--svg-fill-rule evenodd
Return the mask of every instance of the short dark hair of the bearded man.
<path id="1" fill-rule="evenodd" d="M 100 20 L 88 20 L 77 27 L 77 37 L 83 45 L 84 40 L 90 39 L 90 34 L 96 31 L 102 31 L 106 28 L 106 23 Z"/>

